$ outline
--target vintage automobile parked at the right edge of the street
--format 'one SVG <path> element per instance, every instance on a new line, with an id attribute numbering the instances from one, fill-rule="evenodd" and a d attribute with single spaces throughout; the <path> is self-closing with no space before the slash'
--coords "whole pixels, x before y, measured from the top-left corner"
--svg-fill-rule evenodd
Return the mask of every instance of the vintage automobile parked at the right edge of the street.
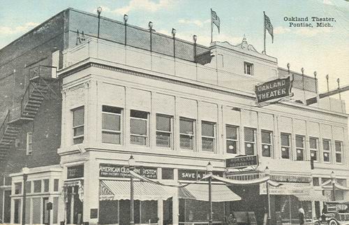
<path id="1" fill-rule="evenodd" d="M 325 207 L 327 212 L 315 219 L 314 225 L 349 225 L 349 201 L 329 201 Z"/>

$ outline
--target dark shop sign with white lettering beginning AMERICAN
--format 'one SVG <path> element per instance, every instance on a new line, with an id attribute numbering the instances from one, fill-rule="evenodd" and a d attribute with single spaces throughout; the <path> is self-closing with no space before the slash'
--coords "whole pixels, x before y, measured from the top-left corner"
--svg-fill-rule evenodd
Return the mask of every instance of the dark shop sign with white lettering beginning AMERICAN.
<path id="1" fill-rule="evenodd" d="M 147 166 L 136 166 L 135 173 L 149 179 L 158 179 L 158 168 Z M 115 164 L 99 164 L 100 177 L 130 177 L 128 166 Z"/>

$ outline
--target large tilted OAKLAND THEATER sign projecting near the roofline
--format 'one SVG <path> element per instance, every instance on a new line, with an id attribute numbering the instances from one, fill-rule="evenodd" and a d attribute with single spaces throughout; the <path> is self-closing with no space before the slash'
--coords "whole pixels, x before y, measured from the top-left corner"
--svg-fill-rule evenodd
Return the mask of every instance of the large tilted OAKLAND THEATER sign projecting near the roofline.
<path id="1" fill-rule="evenodd" d="M 257 103 L 267 101 L 278 101 L 282 98 L 292 96 L 292 81 L 290 77 L 279 78 L 255 86 L 255 96 Z"/>

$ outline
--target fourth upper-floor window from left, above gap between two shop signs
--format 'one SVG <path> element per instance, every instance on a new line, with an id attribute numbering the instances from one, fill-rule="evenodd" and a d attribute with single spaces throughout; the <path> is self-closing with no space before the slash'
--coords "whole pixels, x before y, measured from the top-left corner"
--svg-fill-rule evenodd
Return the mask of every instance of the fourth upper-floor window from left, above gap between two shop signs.
<path id="1" fill-rule="evenodd" d="M 172 147 L 172 117 L 156 115 L 156 146 Z"/>

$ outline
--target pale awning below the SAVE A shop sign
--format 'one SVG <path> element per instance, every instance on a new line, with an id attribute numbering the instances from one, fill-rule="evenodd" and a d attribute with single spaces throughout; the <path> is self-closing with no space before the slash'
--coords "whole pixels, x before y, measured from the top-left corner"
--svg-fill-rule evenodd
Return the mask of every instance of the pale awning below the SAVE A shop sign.
<path id="1" fill-rule="evenodd" d="M 223 201 L 240 201 L 241 198 L 232 190 L 230 190 L 225 184 L 212 184 L 212 201 L 223 202 Z M 185 191 L 179 191 L 179 198 L 193 197 L 198 201 L 209 201 L 209 185 L 208 184 L 190 184 L 187 187 L 181 187 Z M 188 195 L 188 192 L 190 195 Z"/>

